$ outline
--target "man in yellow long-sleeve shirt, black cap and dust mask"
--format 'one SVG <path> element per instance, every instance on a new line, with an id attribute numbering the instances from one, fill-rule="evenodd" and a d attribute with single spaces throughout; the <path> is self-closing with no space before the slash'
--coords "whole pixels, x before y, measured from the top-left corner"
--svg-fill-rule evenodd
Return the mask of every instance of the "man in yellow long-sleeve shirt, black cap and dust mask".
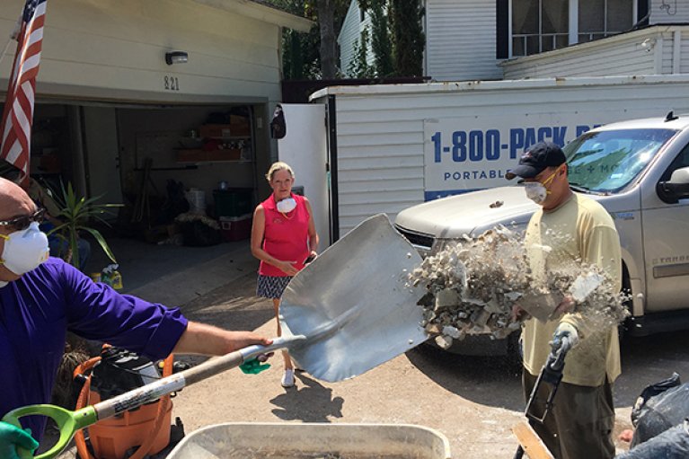
<path id="1" fill-rule="evenodd" d="M 619 290 L 622 259 L 620 239 L 612 217 L 593 199 L 570 190 L 567 163 L 559 146 L 542 142 L 532 146 L 507 174 L 521 177 L 526 195 L 542 208 L 526 229 L 526 250 L 534 278 L 554 271 L 596 264 L 613 278 Z M 566 359 L 562 382 L 551 413 L 534 429 L 552 454 L 563 459 L 599 459 L 614 456 L 613 383 L 620 375 L 617 330 L 596 331 L 586 317 L 573 311 L 565 297 L 561 316 L 548 322 L 526 321 L 522 330 L 524 392 L 531 394 L 550 352 L 549 343 L 563 336 L 581 344 Z"/>

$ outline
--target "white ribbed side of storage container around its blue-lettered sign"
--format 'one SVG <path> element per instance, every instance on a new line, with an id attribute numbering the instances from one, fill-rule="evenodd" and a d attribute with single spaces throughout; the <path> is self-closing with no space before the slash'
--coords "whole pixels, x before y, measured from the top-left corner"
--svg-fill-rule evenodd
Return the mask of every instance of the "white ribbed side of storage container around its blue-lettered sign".
<path id="1" fill-rule="evenodd" d="M 424 201 L 424 120 L 472 116 L 487 125 L 497 114 L 523 119 L 547 114 L 553 123 L 584 110 L 602 122 L 689 111 L 683 77 L 581 78 L 457 84 L 335 87 L 340 236 L 368 216 L 391 220 Z M 619 80 L 619 81 L 618 81 Z M 622 82 L 622 83 L 621 83 Z M 678 94 L 681 94 L 678 96 Z"/>

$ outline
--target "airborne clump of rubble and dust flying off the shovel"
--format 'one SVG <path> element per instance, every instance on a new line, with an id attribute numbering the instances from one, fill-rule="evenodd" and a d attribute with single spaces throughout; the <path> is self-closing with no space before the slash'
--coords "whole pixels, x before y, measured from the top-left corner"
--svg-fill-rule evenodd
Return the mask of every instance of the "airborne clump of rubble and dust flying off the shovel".
<path id="1" fill-rule="evenodd" d="M 514 305 L 545 321 L 564 296 L 572 296 L 575 313 L 601 331 L 628 314 L 627 296 L 614 291 L 614 283 L 596 265 L 579 264 L 550 273 L 545 283 L 535 281 L 523 237 L 504 226 L 475 239 L 464 236 L 423 260 L 409 278 L 412 285 L 427 288 L 419 300 L 424 308 L 421 324 L 444 349 L 467 334 L 506 338 L 526 316 L 516 317 Z"/>

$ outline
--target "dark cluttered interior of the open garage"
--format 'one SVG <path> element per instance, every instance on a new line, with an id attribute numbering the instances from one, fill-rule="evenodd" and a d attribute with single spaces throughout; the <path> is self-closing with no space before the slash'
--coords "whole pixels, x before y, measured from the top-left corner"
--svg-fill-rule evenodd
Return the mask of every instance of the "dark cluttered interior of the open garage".
<path id="1" fill-rule="evenodd" d="M 120 265 L 139 265 L 129 269 L 137 277 L 125 282 L 129 290 L 147 276 L 189 268 L 238 244 L 248 250 L 253 208 L 269 193 L 262 179 L 269 145 L 255 136 L 265 110 L 263 103 L 38 102 L 31 177 L 58 194 L 61 183 L 72 183 L 77 196 L 121 206 L 105 216 L 110 226 L 92 224 Z M 82 235 L 92 246 L 85 270 L 100 271 L 110 261 L 93 237 Z M 178 256 L 183 261 L 172 261 Z M 127 267 L 120 269 L 126 279 Z"/>

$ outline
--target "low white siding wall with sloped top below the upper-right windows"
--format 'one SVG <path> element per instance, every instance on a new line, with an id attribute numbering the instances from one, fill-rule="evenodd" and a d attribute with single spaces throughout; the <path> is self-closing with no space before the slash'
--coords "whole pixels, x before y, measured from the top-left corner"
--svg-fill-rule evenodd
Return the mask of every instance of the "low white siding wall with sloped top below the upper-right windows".
<path id="1" fill-rule="evenodd" d="M 686 72 L 689 63 L 683 56 L 689 54 L 689 26 L 657 26 L 519 57 L 503 64 L 505 78 L 672 74 L 675 31 L 679 31 L 684 47 L 679 55 L 680 70 Z M 656 59 L 660 64 L 658 70 Z"/>

